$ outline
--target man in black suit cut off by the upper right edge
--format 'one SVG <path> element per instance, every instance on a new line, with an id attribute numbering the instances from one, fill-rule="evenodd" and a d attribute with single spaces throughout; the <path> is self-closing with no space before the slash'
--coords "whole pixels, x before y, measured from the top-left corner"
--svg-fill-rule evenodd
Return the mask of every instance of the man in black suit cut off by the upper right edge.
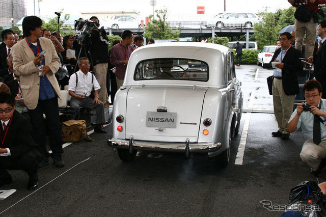
<path id="1" fill-rule="evenodd" d="M 314 63 L 314 78 L 321 84 L 321 92 L 326 93 L 326 20 L 319 23 L 317 34 L 321 38 L 321 47 L 313 57 L 309 57 L 308 61 Z M 326 94 L 321 98 L 326 99 Z"/>

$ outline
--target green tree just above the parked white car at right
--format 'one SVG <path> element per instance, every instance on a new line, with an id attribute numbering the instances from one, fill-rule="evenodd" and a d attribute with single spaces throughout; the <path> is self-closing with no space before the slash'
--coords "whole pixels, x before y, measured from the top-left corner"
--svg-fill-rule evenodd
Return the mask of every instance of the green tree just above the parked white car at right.
<path id="1" fill-rule="evenodd" d="M 276 44 L 281 26 L 277 24 L 275 13 L 266 13 L 262 21 L 255 24 L 254 30 L 258 47 L 264 47 Z"/>

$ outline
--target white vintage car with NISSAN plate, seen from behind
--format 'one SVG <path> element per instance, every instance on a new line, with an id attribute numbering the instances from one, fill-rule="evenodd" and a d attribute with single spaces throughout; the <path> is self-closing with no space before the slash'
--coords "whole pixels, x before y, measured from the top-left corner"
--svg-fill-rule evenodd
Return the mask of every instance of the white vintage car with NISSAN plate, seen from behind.
<path id="1" fill-rule="evenodd" d="M 188 67 L 189 62 L 196 62 Z M 239 131 L 241 83 L 222 45 L 174 42 L 132 52 L 113 105 L 108 144 L 123 161 L 138 150 L 205 153 L 222 166 Z"/>

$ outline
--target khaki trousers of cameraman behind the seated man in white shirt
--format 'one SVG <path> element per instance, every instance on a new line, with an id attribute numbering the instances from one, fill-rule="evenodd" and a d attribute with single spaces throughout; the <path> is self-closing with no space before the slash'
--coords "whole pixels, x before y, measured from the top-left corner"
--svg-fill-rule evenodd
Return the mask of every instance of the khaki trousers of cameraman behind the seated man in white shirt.
<path id="1" fill-rule="evenodd" d="M 106 90 L 106 74 L 107 63 L 98 63 L 93 67 L 95 77 L 101 89 L 97 90 L 98 99 L 104 104 L 108 102 L 108 95 Z"/>

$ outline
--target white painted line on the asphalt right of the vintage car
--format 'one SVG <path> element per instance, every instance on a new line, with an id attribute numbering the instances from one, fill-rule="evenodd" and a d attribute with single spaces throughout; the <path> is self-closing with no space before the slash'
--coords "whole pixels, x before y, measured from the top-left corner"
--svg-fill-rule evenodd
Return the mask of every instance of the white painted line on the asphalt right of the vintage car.
<path id="1" fill-rule="evenodd" d="M 258 70 L 258 69 L 257 69 Z M 257 74 L 256 74 L 257 76 Z M 253 101 L 255 99 L 255 89 L 251 92 L 250 100 L 249 100 L 249 106 L 250 108 L 253 107 Z M 235 157 L 234 165 L 242 165 L 243 164 L 243 155 L 244 155 L 244 149 L 246 149 L 247 144 L 247 136 L 248 136 L 248 130 L 249 130 L 249 123 L 251 118 L 251 112 L 248 112 L 246 114 L 246 119 L 244 119 L 243 129 L 241 133 L 241 138 L 239 142 L 238 152 Z"/>

